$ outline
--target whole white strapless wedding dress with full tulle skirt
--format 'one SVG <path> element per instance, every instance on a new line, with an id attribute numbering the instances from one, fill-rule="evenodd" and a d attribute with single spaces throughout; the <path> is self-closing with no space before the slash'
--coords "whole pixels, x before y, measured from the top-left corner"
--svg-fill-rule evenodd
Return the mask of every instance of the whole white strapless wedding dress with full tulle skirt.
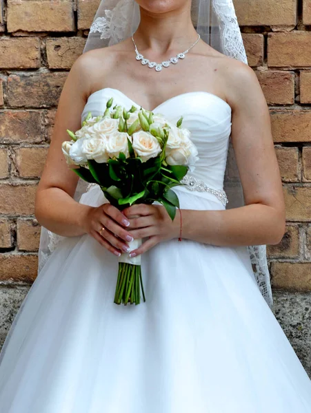
<path id="1" fill-rule="evenodd" d="M 102 114 L 117 89 L 94 92 Z M 138 105 L 137 105 L 138 106 Z M 154 112 L 190 129 L 194 176 L 223 188 L 231 108 L 190 92 Z M 181 209 L 225 209 L 174 188 Z M 106 202 L 98 186 L 81 203 Z M 246 247 L 177 239 L 142 255 L 146 302 L 114 304 L 117 257 L 65 237 L 43 266 L 0 355 L 1 413 L 310 413 L 311 381 L 254 279 Z"/>

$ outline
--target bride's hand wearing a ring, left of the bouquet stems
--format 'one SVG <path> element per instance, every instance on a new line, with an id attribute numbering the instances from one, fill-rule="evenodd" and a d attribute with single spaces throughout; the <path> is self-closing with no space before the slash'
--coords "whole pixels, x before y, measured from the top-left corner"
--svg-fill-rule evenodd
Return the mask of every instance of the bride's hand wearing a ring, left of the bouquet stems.
<path id="1" fill-rule="evenodd" d="M 121 252 L 129 251 L 126 242 L 133 240 L 132 235 L 124 229 L 129 225 L 130 222 L 126 216 L 108 203 L 91 208 L 83 220 L 83 228 L 86 233 L 118 257 Z M 101 231 L 102 228 L 104 228 L 103 231 Z M 99 231 L 101 231 L 101 234 Z M 126 242 L 123 242 L 123 240 Z"/>

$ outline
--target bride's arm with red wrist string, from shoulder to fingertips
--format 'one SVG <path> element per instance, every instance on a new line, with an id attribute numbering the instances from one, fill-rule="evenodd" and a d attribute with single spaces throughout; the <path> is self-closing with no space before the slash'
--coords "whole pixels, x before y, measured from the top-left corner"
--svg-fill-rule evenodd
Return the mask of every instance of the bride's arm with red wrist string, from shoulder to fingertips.
<path id="1" fill-rule="evenodd" d="M 268 106 L 250 67 L 234 62 L 226 72 L 227 89 L 231 91 L 227 97 L 232 107 L 232 145 L 245 206 L 220 211 L 183 209 L 183 238 L 219 246 L 279 244 L 285 232 L 285 204 Z M 148 211 L 133 206 L 123 212 L 128 217 L 134 213 L 151 213 L 152 230 L 141 228 L 140 222 L 148 226 L 144 217 L 130 220 L 134 238 L 151 236 L 135 253 L 143 253 L 161 240 L 179 236 L 178 212 L 174 222 L 154 206 Z"/>

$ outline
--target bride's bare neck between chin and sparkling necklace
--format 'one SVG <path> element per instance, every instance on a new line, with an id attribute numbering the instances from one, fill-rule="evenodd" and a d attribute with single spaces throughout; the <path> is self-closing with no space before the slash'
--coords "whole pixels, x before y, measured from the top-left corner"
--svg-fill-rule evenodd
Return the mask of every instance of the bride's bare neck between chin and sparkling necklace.
<path id="1" fill-rule="evenodd" d="M 188 10 L 160 16 L 141 10 L 141 22 L 134 33 L 134 41 L 140 50 L 152 49 L 159 53 L 170 49 L 187 49 L 196 39 L 197 32 Z"/>

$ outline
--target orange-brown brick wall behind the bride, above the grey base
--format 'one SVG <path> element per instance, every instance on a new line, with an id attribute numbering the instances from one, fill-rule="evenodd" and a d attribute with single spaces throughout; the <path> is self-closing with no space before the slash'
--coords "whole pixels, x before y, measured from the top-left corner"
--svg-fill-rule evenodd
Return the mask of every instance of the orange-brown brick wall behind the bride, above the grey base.
<path id="1" fill-rule="evenodd" d="M 311 290 L 311 0 L 239 0 L 250 65 L 270 105 L 287 231 L 268 246 L 274 288 Z M 31 284 L 34 193 L 57 102 L 99 0 L 0 0 L 0 282 Z"/>

